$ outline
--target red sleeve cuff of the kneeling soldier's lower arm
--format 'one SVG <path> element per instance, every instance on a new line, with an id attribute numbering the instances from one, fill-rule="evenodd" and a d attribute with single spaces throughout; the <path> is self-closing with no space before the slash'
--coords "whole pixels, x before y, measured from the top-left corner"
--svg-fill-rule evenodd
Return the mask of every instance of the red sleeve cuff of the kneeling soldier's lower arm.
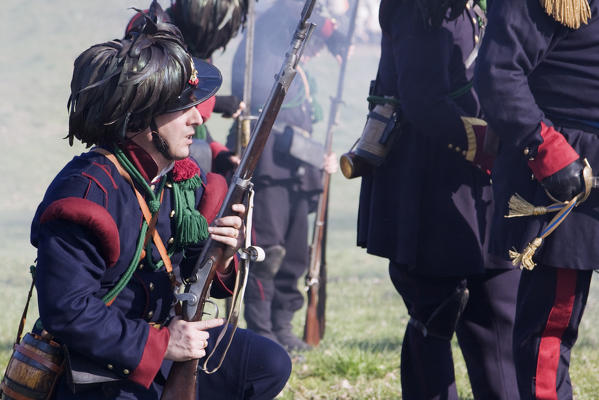
<path id="1" fill-rule="evenodd" d="M 156 329 L 150 327 L 141 361 L 137 368 L 135 368 L 135 371 L 129 376 L 130 380 L 142 385 L 146 389 L 150 387 L 162 365 L 169 338 L 170 333 L 167 328 Z"/>

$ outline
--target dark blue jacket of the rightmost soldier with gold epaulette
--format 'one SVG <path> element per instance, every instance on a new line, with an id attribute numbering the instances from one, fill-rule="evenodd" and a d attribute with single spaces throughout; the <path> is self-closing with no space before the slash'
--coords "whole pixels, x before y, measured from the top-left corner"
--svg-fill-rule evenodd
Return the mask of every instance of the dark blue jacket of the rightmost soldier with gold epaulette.
<path id="1" fill-rule="evenodd" d="M 504 259 L 512 248 L 521 251 L 552 217 L 503 217 L 514 193 L 534 205 L 552 203 L 529 167 L 547 129 L 561 132 L 599 170 L 599 2 L 589 3 L 591 19 L 579 29 L 555 21 L 538 0 L 494 1 L 490 7 L 475 87 L 486 119 L 501 138 L 493 169 L 491 251 Z M 556 267 L 597 268 L 598 201 L 593 190 L 547 237 L 535 260 Z"/>

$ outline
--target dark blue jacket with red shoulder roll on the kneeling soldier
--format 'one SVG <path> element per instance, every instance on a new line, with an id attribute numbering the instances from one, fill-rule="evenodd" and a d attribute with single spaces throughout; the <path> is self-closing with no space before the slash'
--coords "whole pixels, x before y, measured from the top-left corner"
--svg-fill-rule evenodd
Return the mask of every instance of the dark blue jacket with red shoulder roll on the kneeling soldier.
<path id="1" fill-rule="evenodd" d="M 146 153 L 133 148 L 130 154 L 136 154 L 133 159 L 142 174 L 155 176 L 155 164 L 148 162 Z M 172 181 L 179 163 L 162 179 Z M 149 167 L 144 169 L 144 165 Z M 197 169 L 190 159 L 181 165 Z M 201 179 L 203 185 L 196 191 L 198 205 L 205 196 L 206 182 L 210 182 L 204 174 Z M 174 210 L 168 186 L 157 223 L 167 247 L 173 236 Z M 218 205 L 211 207 L 202 211 L 211 215 L 208 218 L 214 217 Z M 148 387 L 169 340 L 168 329 L 150 325 L 164 324 L 174 302 L 164 267 L 154 271 L 140 263 L 110 306 L 101 300 L 131 263 L 142 218 L 129 183 L 105 156 L 90 151 L 69 162 L 49 186 L 33 219 L 31 242 L 38 248 L 36 289 L 44 328 L 71 353 Z M 187 249 L 185 256 L 174 253 L 173 266 L 181 270 L 192 267 L 200 250 L 198 243 Z M 151 257 L 160 260 L 154 246 Z M 212 294 L 224 297 L 230 283 L 218 279 Z"/>

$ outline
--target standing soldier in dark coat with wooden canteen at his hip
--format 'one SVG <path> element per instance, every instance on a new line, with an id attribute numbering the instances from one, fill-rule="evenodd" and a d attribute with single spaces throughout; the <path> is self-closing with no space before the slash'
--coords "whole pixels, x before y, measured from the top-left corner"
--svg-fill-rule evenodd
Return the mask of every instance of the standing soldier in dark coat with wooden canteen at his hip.
<path id="1" fill-rule="evenodd" d="M 384 119 L 393 130 L 386 159 L 362 179 L 358 244 L 389 259 L 410 315 L 402 395 L 458 398 L 455 331 L 474 398 L 517 399 L 511 336 L 519 271 L 487 258 L 485 124 L 466 118 L 480 115 L 471 60 L 484 14 L 466 0 L 383 0 L 379 19 L 369 121 Z M 386 106 L 399 116 L 395 127 L 378 113 Z"/>

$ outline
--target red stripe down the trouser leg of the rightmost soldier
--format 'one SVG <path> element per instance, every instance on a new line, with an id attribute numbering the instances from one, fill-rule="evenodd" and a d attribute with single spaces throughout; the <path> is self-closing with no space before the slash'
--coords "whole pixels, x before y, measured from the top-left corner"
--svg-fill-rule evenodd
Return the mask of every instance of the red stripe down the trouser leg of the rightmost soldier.
<path id="1" fill-rule="evenodd" d="M 547 325 L 541 336 L 535 396 L 537 399 L 557 400 L 557 368 L 560 359 L 562 335 L 568 327 L 576 293 L 577 271 L 557 269 L 555 301 L 549 312 Z"/>

